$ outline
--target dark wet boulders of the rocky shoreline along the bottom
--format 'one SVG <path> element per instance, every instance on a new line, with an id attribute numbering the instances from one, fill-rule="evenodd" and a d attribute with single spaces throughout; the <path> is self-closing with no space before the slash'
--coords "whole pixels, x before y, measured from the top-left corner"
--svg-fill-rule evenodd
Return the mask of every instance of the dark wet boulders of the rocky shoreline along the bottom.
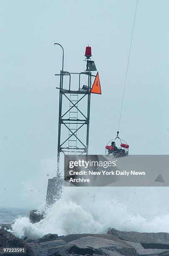
<path id="1" fill-rule="evenodd" d="M 0 229 L 0 247 L 25 247 L 27 256 L 169 256 L 169 233 L 139 233 L 109 228 L 107 234 L 47 234 L 17 238 Z M 0 253 L 0 255 L 9 255 Z"/>

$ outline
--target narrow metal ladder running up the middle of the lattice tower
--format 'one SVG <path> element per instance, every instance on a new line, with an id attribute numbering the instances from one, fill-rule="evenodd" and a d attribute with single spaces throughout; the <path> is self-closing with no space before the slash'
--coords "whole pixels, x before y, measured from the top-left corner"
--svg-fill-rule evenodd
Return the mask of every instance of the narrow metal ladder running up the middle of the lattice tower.
<path id="1" fill-rule="evenodd" d="M 78 102 L 78 94 L 70 94 L 70 100 L 71 101 L 69 107 L 71 108 L 73 104 L 76 104 L 76 102 Z M 76 107 L 78 107 L 78 103 L 76 104 Z M 78 110 L 76 107 L 71 108 L 71 110 L 69 111 L 69 136 L 72 135 L 71 131 L 74 133 L 78 129 Z M 71 123 L 73 120 L 75 121 Z M 77 132 L 75 133 L 75 135 L 77 136 Z M 68 148 L 77 148 L 77 138 L 74 135 L 68 139 Z"/>

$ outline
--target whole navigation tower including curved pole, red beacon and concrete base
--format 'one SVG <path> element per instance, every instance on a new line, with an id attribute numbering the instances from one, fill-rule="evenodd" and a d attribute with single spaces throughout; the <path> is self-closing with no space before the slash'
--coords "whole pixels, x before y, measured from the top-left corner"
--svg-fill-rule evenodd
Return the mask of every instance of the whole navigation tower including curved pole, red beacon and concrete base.
<path id="1" fill-rule="evenodd" d="M 61 46 L 60 44 L 58 44 Z M 63 47 L 61 46 L 62 50 Z M 58 152 L 57 152 L 57 176 L 48 179 L 46 205 L 52 205 L 59 199 L 63 187 L 63 178 L 59 170 L 60 154 L 88 154 L 89 120 L 91 103 L 91 79 L 96 75 L 94 61 L 90 60 L 91 47 L 86 47 L 86 71 L 80 73 L 66 72 L 63 70 L 64 50 L 62 59 L 62 70 L 60 74 L 59 90 L 59 119 L 58 119 Z M 78 76 L 78 82 L 71 84 L 73 76 Z M 84 85 L 83 81 L 87 84 Z M 63 131 L 67 130 L 67 133 Z M 82 131 L 83 130 L 83 131 Z M 66 135 L 67 134 L 67 135 Z"/>

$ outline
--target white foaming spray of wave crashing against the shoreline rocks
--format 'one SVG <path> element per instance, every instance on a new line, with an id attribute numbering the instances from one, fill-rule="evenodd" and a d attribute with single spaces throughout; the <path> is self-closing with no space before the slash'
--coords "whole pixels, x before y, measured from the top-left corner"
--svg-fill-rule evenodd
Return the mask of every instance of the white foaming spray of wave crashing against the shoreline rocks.
<path id="1" fill-rule="evenodd" d="M 109 227 L 169 232 L 168 206 L 160 202 L 159 191 L 168 188 L 66 187 L 43 220 L 32 224 L 18 218 L 13 232 L 33 239 L 47 233 L 106 233 Z"/>

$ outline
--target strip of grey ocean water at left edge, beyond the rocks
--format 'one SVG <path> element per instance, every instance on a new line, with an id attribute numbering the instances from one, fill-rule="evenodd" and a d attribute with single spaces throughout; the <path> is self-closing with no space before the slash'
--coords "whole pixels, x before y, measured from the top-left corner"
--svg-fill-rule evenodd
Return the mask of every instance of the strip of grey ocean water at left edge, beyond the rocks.
<path id="1" fill-rule="evenodd" d="M 13 223 L 18 218 L 28 217 L 29 213 L 25 208 L 0 207 L 0 224 Z"/>

